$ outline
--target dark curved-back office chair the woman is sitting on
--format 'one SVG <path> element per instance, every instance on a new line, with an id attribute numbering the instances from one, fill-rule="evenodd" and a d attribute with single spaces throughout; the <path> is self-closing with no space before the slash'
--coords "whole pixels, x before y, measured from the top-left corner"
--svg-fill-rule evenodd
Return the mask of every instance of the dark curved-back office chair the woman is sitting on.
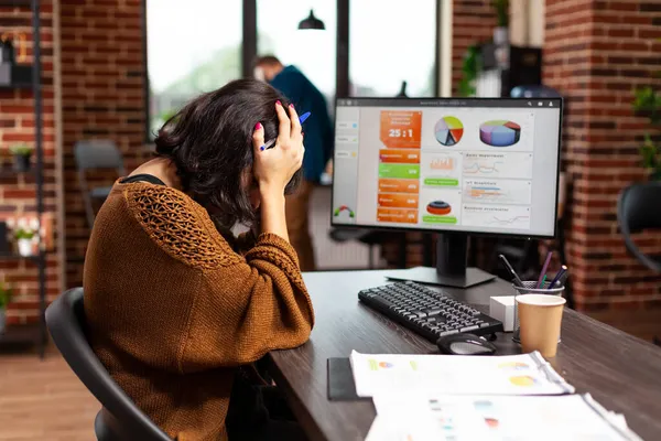
<path id="1" fill-rule="evenodd" d="M 98 441 L 172 441 L 112 380 L 85 336 L 83 288 L 59 295 L 46 309 L 46 326 L 72 370 L 101 402 L 94 421 Z"/>

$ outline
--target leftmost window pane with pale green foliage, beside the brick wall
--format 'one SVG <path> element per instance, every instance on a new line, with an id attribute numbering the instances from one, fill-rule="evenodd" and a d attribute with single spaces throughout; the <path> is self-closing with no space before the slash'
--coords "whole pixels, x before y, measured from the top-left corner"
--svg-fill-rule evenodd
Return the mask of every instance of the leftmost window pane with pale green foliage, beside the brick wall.
<path id="1" fill-rule="evenodd" d="M 149 0 L 151 133 L 191 98 L 241 76 L 241 0 Z"/>

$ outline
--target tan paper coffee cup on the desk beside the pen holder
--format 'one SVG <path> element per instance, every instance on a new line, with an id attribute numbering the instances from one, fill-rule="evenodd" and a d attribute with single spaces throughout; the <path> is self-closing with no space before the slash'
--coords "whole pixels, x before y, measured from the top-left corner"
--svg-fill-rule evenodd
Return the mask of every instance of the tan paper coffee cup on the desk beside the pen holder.
<path id="1" fill-rule="evenodd" d="M 517 295 L 521 346 L 524 353 L 539 351 L 545 358 L 555 356 L 565 303 L 566 300 L 559 295 Z"/>

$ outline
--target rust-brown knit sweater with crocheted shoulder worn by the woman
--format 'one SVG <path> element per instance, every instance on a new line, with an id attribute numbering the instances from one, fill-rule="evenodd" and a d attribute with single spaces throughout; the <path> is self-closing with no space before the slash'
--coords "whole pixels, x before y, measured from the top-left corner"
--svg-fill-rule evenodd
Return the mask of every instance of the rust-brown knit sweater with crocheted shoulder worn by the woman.
<path id="1" fill-rule="evenodd" d="M 262 234 L 236 254 L 184 193 L 116 183 L 85 260 L 90 343 L 118 385 L 180 441 L 225 440 L 237 367 L 307 341 L 296 254 Z"/>

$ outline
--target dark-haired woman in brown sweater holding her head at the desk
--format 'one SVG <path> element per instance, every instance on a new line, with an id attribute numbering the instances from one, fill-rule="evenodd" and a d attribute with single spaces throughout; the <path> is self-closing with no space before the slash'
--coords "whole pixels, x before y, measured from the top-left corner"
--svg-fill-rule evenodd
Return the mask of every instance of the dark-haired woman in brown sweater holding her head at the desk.
<path id="1" fill-rule="evenodd" d="M 314 322 L 284 215 L 304 152 L 296 110 L 271 86 L 237 80 L 185 106 L 155 143 L 158 158 L 115 184 L 94 225 L 94 351 L 172 438 L 273 437 L 263 409 L 234 405 L 261 402 L 240 367 L 303 344 Z M 234 240 L 237 223 L 254 233 Z"/>

